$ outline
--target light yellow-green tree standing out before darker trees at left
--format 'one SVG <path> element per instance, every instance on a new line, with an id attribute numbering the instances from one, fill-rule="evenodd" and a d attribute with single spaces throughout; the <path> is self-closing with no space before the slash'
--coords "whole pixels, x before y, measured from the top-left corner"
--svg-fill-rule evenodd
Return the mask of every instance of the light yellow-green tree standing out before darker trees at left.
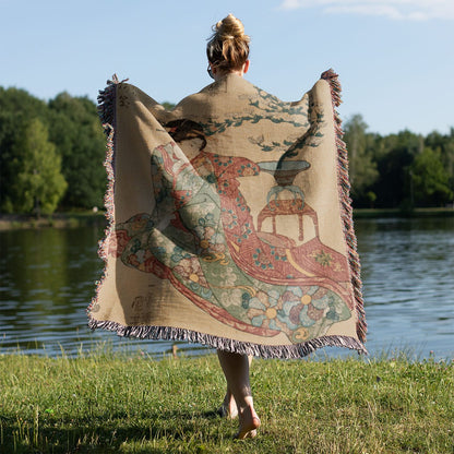
<path id="1" fill-rule="evenodd" d="M 13 145 L 13 156 L 14 211 L 35 212 L 38 216 L 53 213 L 67 182 L 60 172 L 61 158 L 39 119 L 26 124 Z"/>

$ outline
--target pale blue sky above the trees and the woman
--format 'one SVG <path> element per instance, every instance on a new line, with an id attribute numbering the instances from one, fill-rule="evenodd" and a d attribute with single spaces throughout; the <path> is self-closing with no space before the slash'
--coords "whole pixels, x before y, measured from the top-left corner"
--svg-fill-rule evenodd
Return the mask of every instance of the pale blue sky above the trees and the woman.
<path id="1" fill-rule="evenodd" d="M 0 0 L 0 86 L 95 100 L 116 73 L 177 103 L 211 83 L 206 39 L 228 13 L 251 37 L 247 79 L 280 99 L 333 68 L 344 121 L 454 128 L 454 0 Z"/>

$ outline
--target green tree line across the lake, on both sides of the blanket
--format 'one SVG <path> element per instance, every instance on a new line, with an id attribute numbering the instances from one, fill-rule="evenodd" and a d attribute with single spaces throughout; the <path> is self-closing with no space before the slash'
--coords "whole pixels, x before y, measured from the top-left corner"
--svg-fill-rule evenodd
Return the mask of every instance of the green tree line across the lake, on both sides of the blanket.
<path id="1" fill-rule="evenodd" d="M 171 104 L 165 103 L 166 107 Z M 444 206 L 454 194 L 454 128 L 380 135 L 360 115 L 344 123 L 355 207 Z M 51 214 L 103 206 L 105 136 L 95 103 L 44 101 L 0 87 L 0 212 Z"/>

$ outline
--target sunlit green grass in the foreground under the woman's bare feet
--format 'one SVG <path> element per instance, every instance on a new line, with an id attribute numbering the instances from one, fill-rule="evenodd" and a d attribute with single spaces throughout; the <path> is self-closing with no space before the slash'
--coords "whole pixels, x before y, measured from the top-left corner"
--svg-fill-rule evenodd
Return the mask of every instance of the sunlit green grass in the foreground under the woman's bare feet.
<path id="1" fill-rule="evenodd" d="M 2 453 L 454 453 L 454 363 L 256 360 L 259 437 L 213 410 L 215 357 L 0 356 Z"/>

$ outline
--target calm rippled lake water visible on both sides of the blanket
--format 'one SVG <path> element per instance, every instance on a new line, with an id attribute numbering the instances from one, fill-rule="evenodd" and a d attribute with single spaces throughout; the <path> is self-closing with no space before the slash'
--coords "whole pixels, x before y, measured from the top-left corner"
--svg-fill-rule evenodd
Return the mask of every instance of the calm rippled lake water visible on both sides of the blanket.
<path id="1" fill-rule="evenodd" d="M 356 229 L 369 353 L 454 358 L 454 218 L 360 219 Z M 94 226 L 0 232 L 0 354 L 20 348 L 58 356 L 63 349 L 72 356 L 99 342 L 156 356 L 171 349 L 171 343 L 86 327 L 103 267 L 96 254 L 101 236 L 103 227 Z M 207 351 L 186 343 L 179 348 Z"/>

